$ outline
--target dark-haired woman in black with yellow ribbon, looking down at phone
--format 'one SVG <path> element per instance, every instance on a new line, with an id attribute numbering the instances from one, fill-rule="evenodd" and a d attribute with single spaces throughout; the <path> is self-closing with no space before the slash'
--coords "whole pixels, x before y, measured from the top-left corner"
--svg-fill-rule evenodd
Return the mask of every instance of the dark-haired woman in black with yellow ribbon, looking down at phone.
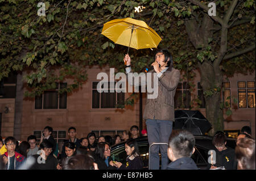
<path id="1" fill-rule="evenodd" d="M 141 170 L 143 162 L 139 154 L 139 148 L 136 140 L 129 140 L 125 144 L 125 151 L 128 157 L 126 158 L 126 165 L 120 162 L 115 162 L 114 166 L 119 170 Z"/>

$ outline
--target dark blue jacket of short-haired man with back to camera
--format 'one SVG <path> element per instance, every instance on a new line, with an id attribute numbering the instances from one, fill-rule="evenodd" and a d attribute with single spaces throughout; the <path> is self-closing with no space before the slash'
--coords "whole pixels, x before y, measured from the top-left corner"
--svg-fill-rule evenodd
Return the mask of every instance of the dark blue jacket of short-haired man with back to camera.
<path id="1" fill-rule="evenodd" d="M 183 157 L 169 163 L 166 170 L 198 170 L 192 158 Z"/>

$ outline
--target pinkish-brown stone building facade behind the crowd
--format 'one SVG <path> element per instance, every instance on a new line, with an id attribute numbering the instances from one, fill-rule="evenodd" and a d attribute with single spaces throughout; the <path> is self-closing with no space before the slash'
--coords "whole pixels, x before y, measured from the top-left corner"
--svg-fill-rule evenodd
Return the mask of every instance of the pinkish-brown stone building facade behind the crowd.
<path id="1" fill-rule="evenodd" d="M 55 90 L 45 91 L 42 96 L 35 99 L 23 98 L 20 140 L 27 140 L 31 134 L 35 134 L 40 139 L 41 131 L 47 125 L 53 128 L 53 136 L 59 144 L 68 137 L 69 127 L 75 127 L 77 137 L 82 138 L 86 137 L 89 132 L 94 132 L 97 136 L 114 136 L 122 134 L 125 129 L 130 129 L 131 125 L 139 126 L 139 99 L 136 99 L 134 106 L 125 106 L 123 109 L 115 108 L 117 104 L 122 104 L 131 93 L 111 91 L 111 86 L 108 88 L 109 92 L 97 91 L 97 84 L 101 81 L 97 79 L 98 73 L 109 75 L 110 68 L 92 66 L 88 68 L 87 73 L 88 80 L 72 93 L 59 94 L 58 92 L 58 89 L 72 82 L 67 79 L 63 83 L 56 83 Z M 252 128 L 252 136 L 255 138 L 255 72 L 248 75 L 236 74 L 224 80 L 222 97 L 228 102 L 231 101 L 232 104 L 232 115 L 226 116 L 224 109 L 225 131 L 232 136 L 232 132 L 237 132 L 244 125 L 249 125 Z M 195 85 L 193 91 L 187 82 L 179 83 L 175 107 L 176 109 L 189 109 L 191 100 L 198 98 L 201 104 L 197 110 L 205 115 L 199 72 L 196 72 L 192 83 Z M 15 79 L 13 82 L 3 82 L 2 85 L 4 91 L 0 98 L 0 134 L 2 137 L 7 137 L 14 135 L 15 94 L 6 95 L 12 92 L 9 91 L 10 86 L 13 86 L 12 90 L 15 91 Z M 23 87 L 24 91 L 26 91 L 26 85 Z M 237 98 L 238 103 L 234 103 L 232 99 L 226 99 L 229 96 Z M 144 108 L 146 93 L 143 93 L 142 103 Z"/>

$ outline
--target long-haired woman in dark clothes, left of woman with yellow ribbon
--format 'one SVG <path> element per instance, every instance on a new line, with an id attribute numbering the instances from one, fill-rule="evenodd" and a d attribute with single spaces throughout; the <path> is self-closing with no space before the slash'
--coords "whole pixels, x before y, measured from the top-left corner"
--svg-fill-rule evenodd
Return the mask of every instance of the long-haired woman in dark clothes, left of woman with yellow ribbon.
<path id="1" fill-rule="evenodd" d="M 94 155 L 95 163 L 98 165 L 99 170 L 114 170 L 114 162 L 110 157 L 110 145 L 107 142 L 99 142 L 97 144 L 96 152 Z"/>

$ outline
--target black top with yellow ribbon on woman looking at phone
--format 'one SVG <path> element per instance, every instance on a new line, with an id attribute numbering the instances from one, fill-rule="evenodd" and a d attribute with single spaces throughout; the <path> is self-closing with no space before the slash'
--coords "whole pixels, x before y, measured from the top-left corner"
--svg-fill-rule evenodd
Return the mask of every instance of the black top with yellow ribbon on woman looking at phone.
<path id="1" fill-rule="evenodd" d="M 130 156 L 126 159 L 126 165 L 121 165 L 119 170 L 142 170 L 143 169 L 143 162 L 141 157 L 137 156 Z"/>

